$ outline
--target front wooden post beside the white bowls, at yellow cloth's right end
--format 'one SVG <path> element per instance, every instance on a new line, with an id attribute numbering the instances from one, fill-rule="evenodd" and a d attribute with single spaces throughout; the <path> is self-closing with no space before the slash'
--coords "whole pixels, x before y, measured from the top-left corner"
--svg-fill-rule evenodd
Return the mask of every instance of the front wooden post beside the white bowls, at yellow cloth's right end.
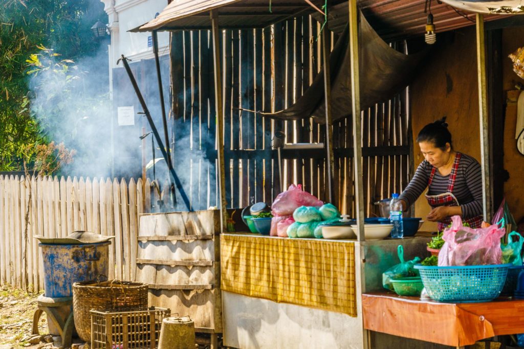
<path id="1" fill-rule="evenodd" d="M 353 112 L 353 164 L 355 171 L 355 202 L 357 239 L 364 241 L 364 187 L 362 184 L 362 129 L 360 106 L 360 81 L 358 76 L 358 19 L 356 0 L 350 0 L 350 57 L 351 57 L 351 101 Z"/>

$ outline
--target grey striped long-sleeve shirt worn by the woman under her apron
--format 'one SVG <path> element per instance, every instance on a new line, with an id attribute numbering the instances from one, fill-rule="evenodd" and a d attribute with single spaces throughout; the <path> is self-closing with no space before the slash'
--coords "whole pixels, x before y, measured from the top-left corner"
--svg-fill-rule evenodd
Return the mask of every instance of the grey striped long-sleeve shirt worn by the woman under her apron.
<path id="1" fill-rule="evenodd" d="M 400 199 L 405 200 L 411 206 L 428 187 L 429 177 L 433 166 L 426 160 L 417 168 L 411 182 Z M 435 172 L 433 181 L 429 186 L 429 195 L 438 195 L 447 192 L 447 183 L 450 176 L 441 176 L 439 171 Z M 482 170 L 481 165 L 471 156 L 462 154 L 460 159 L 453 195 L 459 201 L 462 208 L 463 218 L 481 216 L 482 209 Z"/>

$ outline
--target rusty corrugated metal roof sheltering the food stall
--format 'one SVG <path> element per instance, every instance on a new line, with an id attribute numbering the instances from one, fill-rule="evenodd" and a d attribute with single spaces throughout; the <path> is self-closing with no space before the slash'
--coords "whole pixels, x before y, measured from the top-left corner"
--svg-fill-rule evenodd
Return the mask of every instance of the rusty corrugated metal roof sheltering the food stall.
<path id="1" fill-rule="evenodd" d="M 312 0 L 319 7 L 323 0 Z M 271 3 L 271 12 L 269 4 Z M 475 14 L 455 10 L 452 6 L 431 2 L 436 32 L 474 25 Z M 330 2 L 330 29 L 340 32 L 347 23 L 347 1 Z M 425 0 L 359 0 L 369 23 L 384 39 L 398 39 L 421 35 L 425 30 L 427 14 Z M 160 15 L 139 31 L 210 29 L 210 10 L 215 9 L 222 28 L 260 28 L 306 13 L 323 20 L 304 0 L 173 0 Z M 457 12 L 458 11 L 458 12 Z M 485 20 L 503 18 L 485 15 Z"/>

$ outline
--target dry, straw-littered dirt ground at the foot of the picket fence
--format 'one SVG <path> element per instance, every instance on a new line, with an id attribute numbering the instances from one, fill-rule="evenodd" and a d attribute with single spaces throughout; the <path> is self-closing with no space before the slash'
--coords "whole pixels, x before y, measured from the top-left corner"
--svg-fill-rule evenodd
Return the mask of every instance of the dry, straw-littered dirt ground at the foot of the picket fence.
<path id="1" fill-rule="evenodd" d="M 10 286 L 0 288 L 0 349 L 37 348 L 24 341 L 31 335 L 32 317 L 37 308 L 39 294 L 27 293 Z M 47 334 L 47 320 L 40 318 L 40 334 Z"/>

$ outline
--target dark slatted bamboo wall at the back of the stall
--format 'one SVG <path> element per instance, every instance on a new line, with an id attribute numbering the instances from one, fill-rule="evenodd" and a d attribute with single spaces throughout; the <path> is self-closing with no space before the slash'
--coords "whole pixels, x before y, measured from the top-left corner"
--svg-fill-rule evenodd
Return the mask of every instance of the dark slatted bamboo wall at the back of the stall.
<path id="1" fill-rule="evenodd" d="M 287 142 L 324 142 L 325 127 L 312 119 L 274 121 L 265 112 L 291 106 L 320 72 L 321 25 L 309 16 L 270 28 L 225 30 L 222 42 L 224 151 L 228 207 L 278 195 L 278 162 L 271 150 L 275 130 Z M 327 29 L 325 29 L 327 30 Z M 329 36 L 333 47 L 336 37 Z M 189 172 L 184 186 L 192 209 L 217 205 L 215 102 L 209 31 L 178 31 L 171 38 L 171 137 L 173 164 Z M 409 120 L 403 95 L 364 110 L 363 153 L 366 215 L 373 202 L 400 192 L 408 183 Z M 351 119 L 334 122 L 335 205 L 354 213 Z M 189 160 L 188 160 L 189 159 Z M 324 151 L 302 151 L 283 160 L 284 186 L 303 188 L 326 200 Z M 378 213 L 378 212 L 377 212 Z"/>

